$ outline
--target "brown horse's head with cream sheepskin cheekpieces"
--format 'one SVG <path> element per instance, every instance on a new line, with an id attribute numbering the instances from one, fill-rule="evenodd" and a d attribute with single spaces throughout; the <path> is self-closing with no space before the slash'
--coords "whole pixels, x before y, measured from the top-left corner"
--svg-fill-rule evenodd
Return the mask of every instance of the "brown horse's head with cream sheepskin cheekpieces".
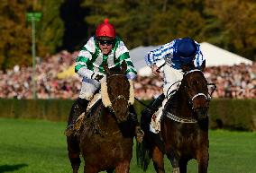
<path id="1" fill-rule="evenodd" d="M 127 120 L 128 108 L 134 102 L 133 82 L 126 78 L 127 65 L 109 69 L 104 65 L 106 80 L 101 83 L 102 100 L 105 107 L 114 113 L 117 123 Z"/>

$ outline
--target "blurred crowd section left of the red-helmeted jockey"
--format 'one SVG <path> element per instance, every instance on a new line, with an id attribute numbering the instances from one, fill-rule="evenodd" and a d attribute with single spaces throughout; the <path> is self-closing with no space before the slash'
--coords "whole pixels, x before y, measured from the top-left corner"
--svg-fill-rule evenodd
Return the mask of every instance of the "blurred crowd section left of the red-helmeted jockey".
<path id="1" fill-rule="evenodd" d="M 61 51 L 43 61 L 36 58 L 35 82 L 32 67 L 14 66 L 0 71 L 0 98 L 32 99 L 35 90 L 38 99 L 76 99 L 80 90 L 79 76 L 58 79 L 57 74 L 69 68 L 78 52 Z"/>

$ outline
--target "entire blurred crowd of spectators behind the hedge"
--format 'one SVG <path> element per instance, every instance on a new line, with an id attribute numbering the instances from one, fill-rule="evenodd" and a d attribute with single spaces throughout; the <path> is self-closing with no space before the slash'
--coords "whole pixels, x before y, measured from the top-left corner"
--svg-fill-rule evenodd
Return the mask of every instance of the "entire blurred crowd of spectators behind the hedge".
<path id="1" fill-rule="evenodd" d="M 60 72 L 73 65 L 78 52 L 61 51 L 42 60 L 37 57 L 35 82 L 32 67 L 15 65 L 0 71 L 0 98 L 32 99 L 33 89 L 38 99 L 76 99 L 81 78 L 76 74 L 59 79 Z M 252 65 L 212 66 L 204 71 L 208 82 L 216 84 L 213 98 L 255 99 L 256 62 Z M 35 83 L 35 85 L 33 85 Z M 162 92 L 162 76 L 140 76 L 134 82 L 137 99 L 152 99 Z M 33 88 L 35 87 L 35 88 Z"/>

